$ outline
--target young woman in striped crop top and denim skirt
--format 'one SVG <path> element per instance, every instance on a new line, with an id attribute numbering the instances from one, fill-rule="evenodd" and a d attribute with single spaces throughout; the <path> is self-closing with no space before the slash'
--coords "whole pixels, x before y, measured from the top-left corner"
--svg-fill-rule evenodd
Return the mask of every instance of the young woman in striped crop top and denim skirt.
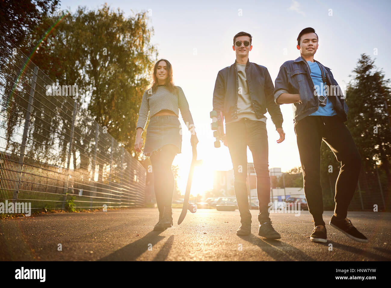
<path id="1" fill-rule="evenodd" d="M 198 139 L 185 94 L 181 87 L 174 86 L 170 62 L 160 59 L 153 68 L 151 83 L 143 94 L 135 141 L 135 150 L 142 152 L 141 134 L 151 112 L 143 160 L 151 158 L 154 174 L 154 190 L 159 209 L 159 222 L 153 229 L 155 231 L 163 231 L 173 225 L 171 203 L 174 195 L 174 175 L 171 164 L 176 154 L 181 153 L 182 148 L 178 109 L 181 111 L 183 121 L 192 132 L 190 143 L 197 145 Z"/>

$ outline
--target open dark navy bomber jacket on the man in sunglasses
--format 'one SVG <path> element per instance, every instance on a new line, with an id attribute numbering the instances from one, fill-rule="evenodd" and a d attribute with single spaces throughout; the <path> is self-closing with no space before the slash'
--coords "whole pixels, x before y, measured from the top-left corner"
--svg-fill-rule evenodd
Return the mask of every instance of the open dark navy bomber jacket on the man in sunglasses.
<path id="1" fill-rule="evenodd" d="M 239 79 L 235 63 L 219 71 L 213 90 L 213 110 L 222 111 L 226 121 L 238 118 Z M 282 128 L 282 113 L 274 102 L 274 85 L 267 68 L 247 60 L 246 77 L 257 119 L 269 112 L 276 128 Z"/>

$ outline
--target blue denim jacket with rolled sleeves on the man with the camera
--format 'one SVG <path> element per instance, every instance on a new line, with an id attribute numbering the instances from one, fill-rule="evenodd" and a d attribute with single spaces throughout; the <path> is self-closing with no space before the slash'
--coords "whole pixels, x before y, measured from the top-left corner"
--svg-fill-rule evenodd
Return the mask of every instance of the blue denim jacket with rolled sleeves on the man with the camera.
<path id="1" fill-rule="evenodd" d="M 335 81 L 330 68 L 323 66 L 326 76 L 326 91 L 327 101 L 331 101 L 337 115 L 346 122 L 348 115 L 348 105 L 345 103 L 345 97 L 342 94 L 341 88 Z M 310 74 L 310 67 L 303 58 L 299 57 L 296 60 L 286 61 L 280 67 L 280 72 L 274 82 L 274 99 L 276 104 L 277 98 L 283 93 L 300 94 L 300 101 L 292 103 L 294 119 L 293 122 L 298 122 L 304 117 L 314 113 L 319 108 L 319 100 L 317 98 L 316 88 Z"/>

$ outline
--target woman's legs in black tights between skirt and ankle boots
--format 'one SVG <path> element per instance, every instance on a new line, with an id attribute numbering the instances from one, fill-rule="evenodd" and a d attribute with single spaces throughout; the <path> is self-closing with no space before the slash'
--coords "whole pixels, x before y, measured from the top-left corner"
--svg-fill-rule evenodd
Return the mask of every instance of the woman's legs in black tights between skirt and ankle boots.
<path id="1" fill-rule="evenodd" d="M 174 196 L 174 174 L 171 165 L 177 150 L 175 145 L 167 144 L 162 146 L 158 153 L 151 155 L 155 197 L 160 216 L 163 216 L 164 207 L 171 209 Z"/>

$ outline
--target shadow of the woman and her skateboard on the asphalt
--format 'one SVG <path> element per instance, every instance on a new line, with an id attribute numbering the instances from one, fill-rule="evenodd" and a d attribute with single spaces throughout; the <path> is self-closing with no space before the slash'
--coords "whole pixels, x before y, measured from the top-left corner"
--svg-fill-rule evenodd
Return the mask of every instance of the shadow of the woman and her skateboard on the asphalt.
<path id="1" fill-rule="evenodd" d="M 152 244 L 152 247 L 154 247 L 154 245 L 156 245 L 159 241 L 166 238 L 165 236 L 159 235 L 161 232 L 151 231 L 143 238 L 140 238 L 134 241 L 133 243 L 130 243 L 129 245 L 126 245 L 125 247 L 118 249 L 117 251 L 114 251 L 108 256 L 100 258 L 98 261 L 135 261 L 137 257 L 139 257 L 141 254 L 143 254 L 145 251 L 148 250 L 149 244 Z M 159 251 L 158 255 L 156 255 L 155 259 L 159 258 L 158 260 L 160 260 L 161 258 L 165 259 L 167 257 L 169 248 L 171 247 L 172 242 L 174 241 L 173 239 L 170 240 L 170 238 L 167 240 L 167 242 L 169 241 L 170 242 L 168 244 L 167 242 L 164 244 L 164 246 Z M 163 249 L 166 249 L 166 247 L 169 247 L 167 249 L 167 252 L 165 251 L 161 252 Z"/>

